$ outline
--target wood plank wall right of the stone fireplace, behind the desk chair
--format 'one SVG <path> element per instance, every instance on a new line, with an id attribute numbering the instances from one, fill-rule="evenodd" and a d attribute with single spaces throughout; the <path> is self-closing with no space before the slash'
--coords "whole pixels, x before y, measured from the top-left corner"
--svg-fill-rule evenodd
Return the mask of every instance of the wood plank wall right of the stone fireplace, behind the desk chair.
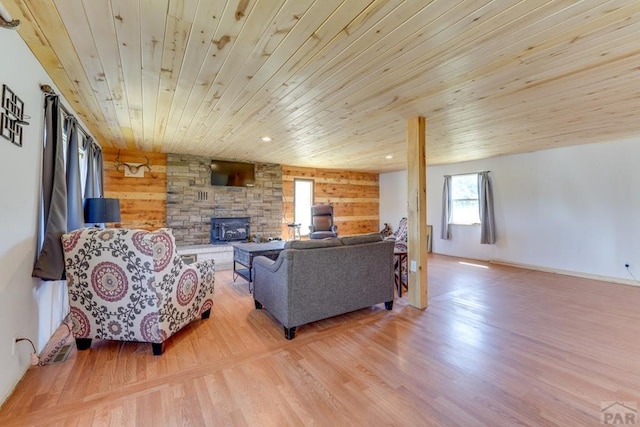
<path id="1" fill-rule="evenodd" d="M 293 222 L 293 180 L 312 179 L 314 203 L 333 205 L 334 222 L 341 236 L 379 231 L 379 175 L 331 169 L 282 166 L 282 235 Z"/>

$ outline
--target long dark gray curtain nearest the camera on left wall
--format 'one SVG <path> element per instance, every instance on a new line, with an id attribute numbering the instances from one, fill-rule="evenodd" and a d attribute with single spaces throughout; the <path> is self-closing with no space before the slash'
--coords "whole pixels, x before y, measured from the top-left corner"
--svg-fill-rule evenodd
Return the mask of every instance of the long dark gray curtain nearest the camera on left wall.
<path id="1" fill-rule="evenodd" d="M 44 151 L 42 156 L 42 218 L 39 252 L 33 277 L 60 280 L 64 274 L 60 237 L 67 231 L 67 185 L 62 141 L 62 112 L 56 95 L 45 95 Z"/>

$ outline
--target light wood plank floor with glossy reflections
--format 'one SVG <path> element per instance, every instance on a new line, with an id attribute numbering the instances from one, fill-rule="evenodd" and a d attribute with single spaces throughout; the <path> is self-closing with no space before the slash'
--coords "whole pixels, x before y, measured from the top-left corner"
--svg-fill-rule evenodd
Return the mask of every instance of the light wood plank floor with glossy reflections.
<path id="1" fill-rule="evenodd" d="M 429 308 L 396 300 L 292 341 L 216 273 L 211 318 L 151 346 L 94 341 L 32 368 L 0 425 L 600 425 L 640 402 L 640 288 L 429 258 Z"/>

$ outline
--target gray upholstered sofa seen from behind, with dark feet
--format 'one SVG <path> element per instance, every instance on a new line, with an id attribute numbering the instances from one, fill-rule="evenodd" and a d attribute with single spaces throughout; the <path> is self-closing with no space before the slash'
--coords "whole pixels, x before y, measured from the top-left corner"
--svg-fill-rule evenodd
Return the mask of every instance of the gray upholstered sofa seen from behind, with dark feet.
<path id="1" fill-rule="evenodd" d="M 296 327 L 385 303 L 393 308 L 393 241 L 379 233 L 294 240 L 274 261 L 253 260 L 253 297 L 284 326 Z"/>

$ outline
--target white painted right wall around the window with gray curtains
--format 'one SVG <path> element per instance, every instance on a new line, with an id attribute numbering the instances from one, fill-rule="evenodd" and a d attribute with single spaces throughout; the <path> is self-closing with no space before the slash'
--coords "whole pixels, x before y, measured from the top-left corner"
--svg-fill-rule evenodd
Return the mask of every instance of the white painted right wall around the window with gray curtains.
<path id="1" fill-rule="evenodd" d="M 631 279 L 628 262 L 640 277 L 638 159 L 640 138 L 428 167 L 433 251 L 622 281 Z M 491 171 L 497 243 L 481 245 L 479 226 L 453 226 L 452 240 L 442 240 L 443 175 L 481 170 Z M 381 221 L 398 199 L 387 195 L 406 193 L 399 176 L 380 177 Z"/>

